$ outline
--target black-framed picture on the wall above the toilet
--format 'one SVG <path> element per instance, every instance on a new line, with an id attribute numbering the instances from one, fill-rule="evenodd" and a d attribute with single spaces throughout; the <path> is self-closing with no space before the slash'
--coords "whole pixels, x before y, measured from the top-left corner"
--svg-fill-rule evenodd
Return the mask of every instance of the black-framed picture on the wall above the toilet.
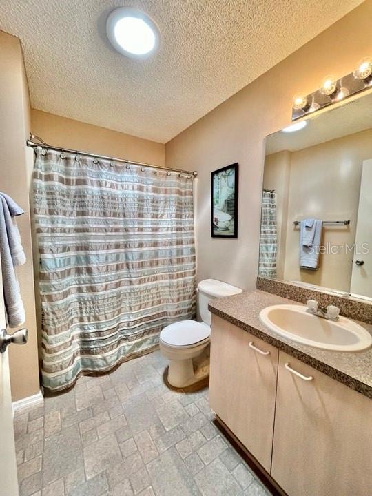
<path id="1" fill-rule="evenodd" d="M 211 173 L 212 238 L 238 238 L 238 169 L 234 163 Z"/>

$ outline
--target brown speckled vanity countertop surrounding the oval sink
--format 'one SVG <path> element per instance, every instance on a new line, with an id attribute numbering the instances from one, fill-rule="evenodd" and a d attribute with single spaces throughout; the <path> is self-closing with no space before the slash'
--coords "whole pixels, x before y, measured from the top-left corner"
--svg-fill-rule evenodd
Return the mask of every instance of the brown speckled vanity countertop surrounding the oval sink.
<path id="1" fill-rule="evenodd" d="M 260 311 L 273 304 L 300 304 L 258 289 L 209 302 L 209 310 L 272 344 L 301 362 L 372 399 L 372 348 L 361 352 L 328 351 L 283 338 L 260 322 Z M 358 321 L 355 321 L 358 322 Z M 372 325 L 358 322 L 372 334 Z"/>

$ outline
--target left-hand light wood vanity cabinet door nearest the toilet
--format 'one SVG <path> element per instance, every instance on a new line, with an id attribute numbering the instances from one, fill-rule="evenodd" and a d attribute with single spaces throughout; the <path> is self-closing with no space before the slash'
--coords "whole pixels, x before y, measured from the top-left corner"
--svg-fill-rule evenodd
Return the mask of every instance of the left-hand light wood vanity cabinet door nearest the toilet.
<path id="1" fill-rule="evenodd" d="M 268 472 L 277 369 L 276 348 L 226 320 L 212 316 L 211 409 Z"/>

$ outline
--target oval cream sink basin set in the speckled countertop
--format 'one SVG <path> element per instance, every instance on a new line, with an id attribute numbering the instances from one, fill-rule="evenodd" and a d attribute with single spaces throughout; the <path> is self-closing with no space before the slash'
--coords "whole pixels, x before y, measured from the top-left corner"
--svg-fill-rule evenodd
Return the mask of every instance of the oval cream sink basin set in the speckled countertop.
<path id="1" fill-rule="evenodd" d="M 372 344 L 371 334 L 353 320 L 327 320 L 295 304 L 273 305 L 260 311 L 260 321 L 271 331 L 293 341 L 333 351 L 360 351 Z"/>

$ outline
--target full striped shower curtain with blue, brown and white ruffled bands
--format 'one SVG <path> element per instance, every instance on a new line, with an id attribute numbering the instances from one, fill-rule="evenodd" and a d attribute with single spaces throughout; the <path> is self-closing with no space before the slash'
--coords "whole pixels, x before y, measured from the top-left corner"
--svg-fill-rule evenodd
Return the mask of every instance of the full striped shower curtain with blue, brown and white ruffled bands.
<path id="1" fill-rule="evenodd" d="M 41 375 L 68 388 L 195 313 L 193 176 L 37 149 Z"/>

